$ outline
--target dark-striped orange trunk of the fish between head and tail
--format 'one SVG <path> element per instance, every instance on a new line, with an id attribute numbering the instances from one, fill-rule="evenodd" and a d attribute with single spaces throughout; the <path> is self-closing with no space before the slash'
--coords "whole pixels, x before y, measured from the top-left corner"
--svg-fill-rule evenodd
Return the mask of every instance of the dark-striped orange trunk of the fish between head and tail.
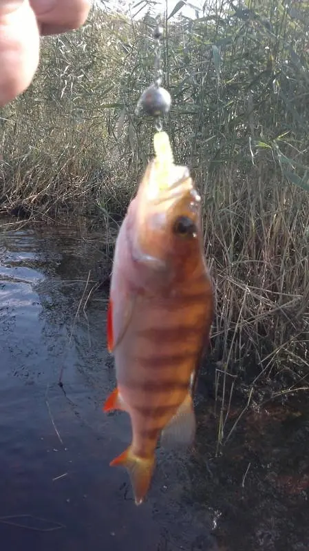
<path id="1" fill-rule="evenodd" d="M 126 272 L 130 263 L 128 259 Z M 125 278 L 125 273 L 120 277 Z M 115 273 L 119 288 L 117 279 Z M 122 312 L 118 302 L 123 301 L 123 306 L 126 294 L 133 304 L 127 331 L 114 352 L 116 378 L 131 417 L 132 449 L 142 457 L 153 453 L 161 430 L 187 397 L 211 324 L 212 289 L 203 262 L 188 282 L 169 291 L 153 295 L 130 289 L 128 281 L 122 289 L 124 295 L 111 293 L 115 329 L 122 323 L 122 317 L 117 320 Z"/>

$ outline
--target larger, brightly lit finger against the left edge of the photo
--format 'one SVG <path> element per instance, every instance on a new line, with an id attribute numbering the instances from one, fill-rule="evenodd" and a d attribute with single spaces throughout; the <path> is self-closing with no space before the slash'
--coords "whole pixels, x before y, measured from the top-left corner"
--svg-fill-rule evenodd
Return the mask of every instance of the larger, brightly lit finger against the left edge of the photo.
<path id="1" fill-rule="evenodd" d="M 23 92 L 39 64 L 39 29 L 28 0 L 0 0 L 0 107 Z"/>

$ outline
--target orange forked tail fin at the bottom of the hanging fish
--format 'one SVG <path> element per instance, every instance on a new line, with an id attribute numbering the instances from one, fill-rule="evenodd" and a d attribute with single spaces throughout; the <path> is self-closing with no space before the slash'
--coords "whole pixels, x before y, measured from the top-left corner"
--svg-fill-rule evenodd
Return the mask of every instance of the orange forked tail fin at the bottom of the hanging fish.
<path id="1" fill-rule="evenodd" d="M 138 457 L 138 455 L 133 453 L 131 446 L 129 446 L 127 450 L 118 455 L 118 457 L 115 457 L 109 464 L 111 467 L 123 466 L 129 472 L 136 505 L 140 505 L 147 495 L 155 459 L 154 454 L 151 457 Z"/>

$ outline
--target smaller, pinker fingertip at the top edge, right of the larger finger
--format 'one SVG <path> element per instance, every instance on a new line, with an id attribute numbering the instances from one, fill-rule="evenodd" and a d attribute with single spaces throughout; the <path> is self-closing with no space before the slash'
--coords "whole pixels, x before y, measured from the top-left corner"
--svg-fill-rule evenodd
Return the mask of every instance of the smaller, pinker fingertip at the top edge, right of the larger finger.
<path id="1" fill-rule="evenodd" d="M 41 34 L 77 29 L 87 19 L 90 0 L 30 0 Z"/>

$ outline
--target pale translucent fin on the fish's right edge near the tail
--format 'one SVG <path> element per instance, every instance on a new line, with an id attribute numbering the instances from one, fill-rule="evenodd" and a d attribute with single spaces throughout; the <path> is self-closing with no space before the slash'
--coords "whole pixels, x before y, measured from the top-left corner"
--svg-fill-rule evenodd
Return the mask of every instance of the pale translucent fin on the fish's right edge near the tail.
<path id="1" fill-rule="evenodd" d="M 175 445 L 190 446 L 195 437 L 195 413 L 190 393 L 184 398 L 177 412 L 161 433 L 160 444 L 164 448 L 174 448 Z"/>

